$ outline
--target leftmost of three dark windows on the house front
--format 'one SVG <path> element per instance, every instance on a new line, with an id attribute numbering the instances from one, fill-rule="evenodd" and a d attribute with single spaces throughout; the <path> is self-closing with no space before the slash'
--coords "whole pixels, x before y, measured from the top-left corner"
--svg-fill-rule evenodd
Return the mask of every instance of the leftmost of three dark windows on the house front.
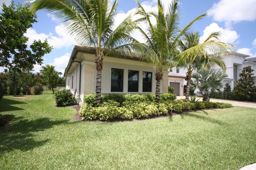
<path id="1" fill-rule="evenodd" d="M 123 92 L 123 69 L 111 69 L 111 92 Z"/>

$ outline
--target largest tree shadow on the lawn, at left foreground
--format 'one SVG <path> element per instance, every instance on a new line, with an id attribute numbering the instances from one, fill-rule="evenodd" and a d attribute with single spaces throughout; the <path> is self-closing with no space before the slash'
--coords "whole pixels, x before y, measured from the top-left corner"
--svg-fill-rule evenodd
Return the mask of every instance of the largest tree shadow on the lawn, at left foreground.
<path id="1" fill-rule="evenodd" d="M 38 118 L 30 121 L 20 120 L 22 117 L 13 115 L 9 115 L 9 117 L 13 118 L 11 123 L 0 130 L 0 155 L 12 150 L 28 151 L 41 147 L 51 139 L 35 140 L 36 132 L 45 131 L 55 125 L 70 124 L 69 120 L 51 121 L 49 118 Z"/>

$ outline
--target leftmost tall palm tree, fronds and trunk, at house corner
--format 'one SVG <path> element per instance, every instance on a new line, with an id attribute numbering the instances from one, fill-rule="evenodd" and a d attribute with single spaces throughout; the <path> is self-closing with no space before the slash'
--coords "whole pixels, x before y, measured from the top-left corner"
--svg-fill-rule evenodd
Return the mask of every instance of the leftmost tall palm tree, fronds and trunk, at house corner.
<path id="1" fill-rule="evenodd" d="M 97 70 L 96 100 L 100 103 L 102 62 L 110 52 L 123 53 L 126 43 L 137 42 L 130 36 L 136 27 L 129 15 L 113 29 L 117 0 L 34 0 L 31 10 L 46 10 L 66 23 L 78 44 L 95 49 Z M 129 49 L 127 49 L 129 50 Z"/>

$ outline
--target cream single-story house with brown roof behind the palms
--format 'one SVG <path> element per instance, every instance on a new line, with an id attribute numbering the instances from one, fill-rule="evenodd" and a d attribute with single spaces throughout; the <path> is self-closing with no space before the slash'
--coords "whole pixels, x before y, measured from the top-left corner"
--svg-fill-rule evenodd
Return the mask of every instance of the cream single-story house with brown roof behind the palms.
<path id="1" fill-rule="evenodd" d="M 66 89 L 69 89 L 82 104 L 83 96 L 95 93 L 95 49 L 75 46 L 65 69 Z M 154 67 L 138 56 L 108 55 L 103 60 L 102 94 L 150 94 L 155 93 Z M 163 70 L 161 93 L 168 92 L 168 69 Z"/>

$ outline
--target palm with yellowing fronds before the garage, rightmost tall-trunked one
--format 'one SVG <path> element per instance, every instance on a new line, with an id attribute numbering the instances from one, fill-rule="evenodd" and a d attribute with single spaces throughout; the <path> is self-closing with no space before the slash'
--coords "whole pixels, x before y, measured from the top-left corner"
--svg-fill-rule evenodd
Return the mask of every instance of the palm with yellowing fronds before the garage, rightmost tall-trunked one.
<path id="1" fill-rule="evenodd" d="M 194 71 L 201 69 L 202 67 L 209 68 L 210 65 L 217 64 L 225 72 L 226 65 L 221 60 L 221 56 L 228 54 L 230 52 L 230 44 L 222 43 L 218 40 L 220 33 L 213 32 L 203 43 L 199 43 L 199 32 L 187 32 L 184 34 L 184 38 L 178 41 L 178 48 L 181 52 L 186 52 L 186 50 L 195 49 L 193 55 L 189 53 L 184 53 L 178 58 L 178 66 L 185 67 L 187 69 L 186 73 L 186 101 L 189 101 L 189 91 L 190 91 L 190 80 L 191 75 Z M 196 53 L 196 48 L 205 47 L 203 50 L 199 49 L 199 52 Z M 207 55 L 207 53 L 218 53 L 218 55 Z"/>

